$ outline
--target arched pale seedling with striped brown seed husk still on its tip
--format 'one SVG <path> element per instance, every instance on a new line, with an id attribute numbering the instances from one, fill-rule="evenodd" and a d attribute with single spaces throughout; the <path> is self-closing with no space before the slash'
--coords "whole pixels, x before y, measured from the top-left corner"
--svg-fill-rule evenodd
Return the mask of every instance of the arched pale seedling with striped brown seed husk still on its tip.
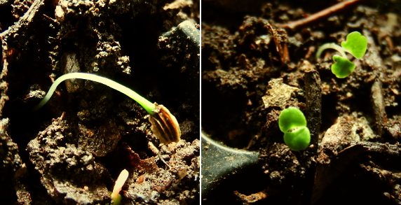
<path id="1" fill-rule="evenodd" d="M 137 101 L 150 114 L 149 121 L 152 124 L 151 130 L 158 137 L 158 139 L 160 139 L 161 143 L 168 144 L 170 142 L 178 142 L 181 138 L 181 130 L 179 129 L 177 119 L 170 113 L 170 111 L 168 111 L 167 108 L 165 108 L 165 106 L 158 105 L 156 103 L 152 104 L 150 101 L 140 96 L 133 90 L 130 90 L 128 87 L 116 83 L 109 78 L 104 78 L 91 73 L 67 73 L 63 76 L 60 76 L 60 78 L 57 78 L 53 85 L 51 85 L 48 93 L 42 99 L 42 101 L 40 101 L 37 106 L 34 106 L 32 110 L 37 111 L 39 108 L 44 106 L 53 95 L 57 85 L 59 85 L 62 81 L 73 78 L 92 80 L 97 83 L 102 83 L 115 90 L 118 90 L 119 92 L 122 92 L 123 94 L 126 94 L 131 99 Z"/>

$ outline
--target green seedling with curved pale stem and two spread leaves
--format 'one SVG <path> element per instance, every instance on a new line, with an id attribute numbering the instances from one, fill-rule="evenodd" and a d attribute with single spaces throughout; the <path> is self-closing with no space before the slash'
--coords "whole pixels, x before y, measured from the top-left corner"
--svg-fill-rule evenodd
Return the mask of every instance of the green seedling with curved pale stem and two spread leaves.
<path id="1" fill-rule="evenodd" d="M 341 46 L 336 43 L 325 43 L 318 49 L 316 53 L 316 58 L 320 57 L 323 50 L 327 48 L 332 48 L 337 50 L 340 55 L 334 55 L 333 59 L 336 63 L 332 64 L 332 73 L 337 76 L 337 78 L 346 78 L 355 69 L 355 64 L 351 62 L 345 52 L 351 53 L 353 57 L 360 59 L 365 55 L 367 48 L 367 39 L 365 36 L 360 34 L 358 31 L 354 31 L 347 35 L 346 41 L 341 42 Z"/>

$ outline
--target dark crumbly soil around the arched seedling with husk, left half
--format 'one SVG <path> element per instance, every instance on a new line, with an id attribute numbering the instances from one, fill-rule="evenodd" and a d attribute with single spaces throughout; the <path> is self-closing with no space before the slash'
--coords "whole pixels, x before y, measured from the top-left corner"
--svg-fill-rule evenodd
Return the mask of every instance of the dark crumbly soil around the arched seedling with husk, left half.
<path id="1" fill-rule="evenodd" d="M 0 1 L 1 204 L 107 204 L 123 169 L 122 204 L 198 204 L 199 41 L 174 35 L 199 1 Z M 170 32 L 169 32 L 170 31 Z M 191 38 L 190 38 L 191 37 Z M 163 104 L 181 140 L 165 145 L 149 114 L 89 80 L 95 73 Z"/>

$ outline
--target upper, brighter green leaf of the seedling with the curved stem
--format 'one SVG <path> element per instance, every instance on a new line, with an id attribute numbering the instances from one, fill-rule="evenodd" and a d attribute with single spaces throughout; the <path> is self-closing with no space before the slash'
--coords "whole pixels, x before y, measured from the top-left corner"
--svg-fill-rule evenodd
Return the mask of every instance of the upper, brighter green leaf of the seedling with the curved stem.
<path id="1" fill-rule="evenodd" d="M 365 55 L 367 40 L 360 32 L 354 31 L 348 34 L 346 41 L 341 42 L 341 47 L 345 48 L 354 57 L 360 59 Z"/>

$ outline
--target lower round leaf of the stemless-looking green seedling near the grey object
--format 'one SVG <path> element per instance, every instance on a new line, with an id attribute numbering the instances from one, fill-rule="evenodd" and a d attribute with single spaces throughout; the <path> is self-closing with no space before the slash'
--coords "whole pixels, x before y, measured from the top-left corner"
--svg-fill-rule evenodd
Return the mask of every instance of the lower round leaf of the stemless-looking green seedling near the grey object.
<path id="1" fill-rule="evenodd" d="M 311 132 L 309 132 L 308 127 L 299 127 L 292 132 L 285 132 L 284 142 L 294 151 L 304 150 L 311 143 Z"/>

